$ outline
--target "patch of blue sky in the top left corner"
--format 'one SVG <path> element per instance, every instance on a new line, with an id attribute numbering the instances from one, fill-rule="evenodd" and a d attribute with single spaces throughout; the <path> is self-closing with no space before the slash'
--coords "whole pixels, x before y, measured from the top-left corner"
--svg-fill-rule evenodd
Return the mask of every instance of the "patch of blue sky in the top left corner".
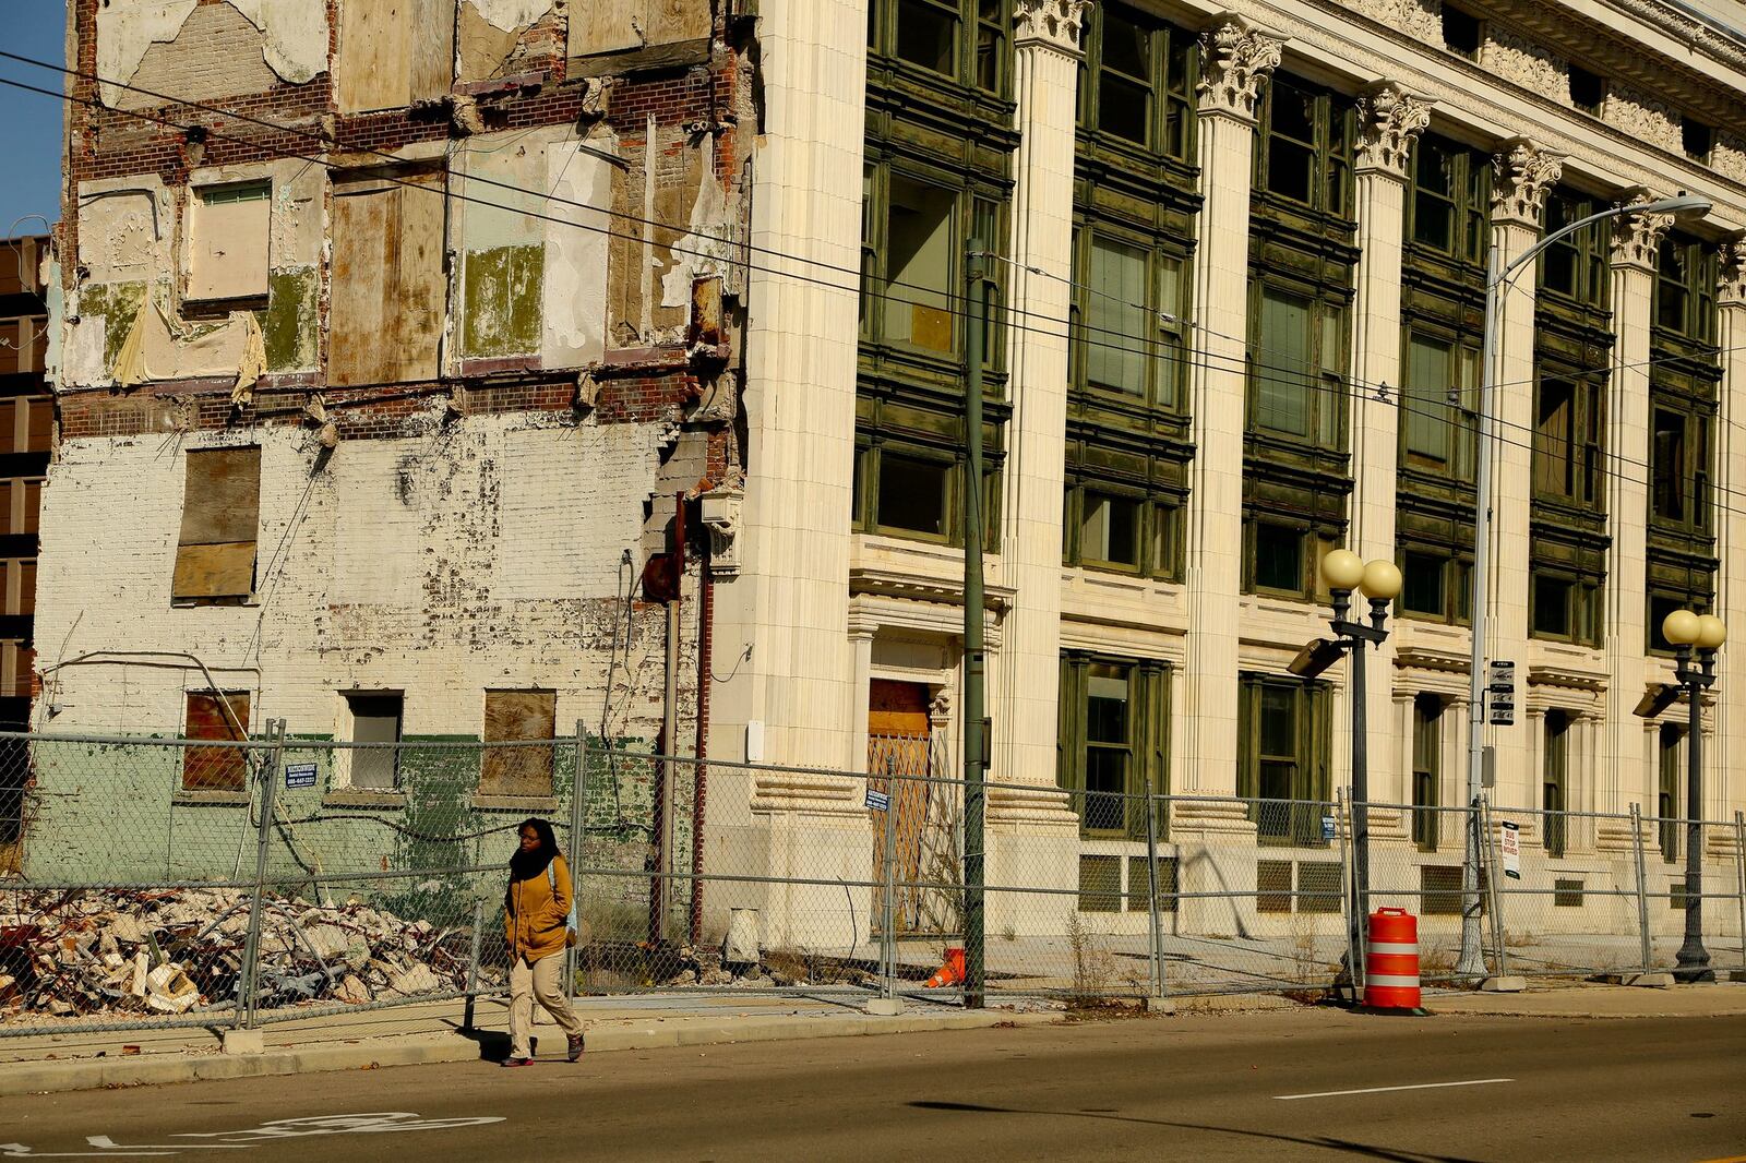
<path id="1" fill-rule="evenodd" d="M 61 61 L 65 0 L 5 0 L 7 35 L 0 47 L 38 61 Z M 61 89 L 63 77 L 45 68 L 0 61 L 0 77 L 42 89 Z M 40 234 L 42 222 L 12 224 L 23 215 L 61 217 L 61 101 L 0 86 L 0 231 Z"/>

